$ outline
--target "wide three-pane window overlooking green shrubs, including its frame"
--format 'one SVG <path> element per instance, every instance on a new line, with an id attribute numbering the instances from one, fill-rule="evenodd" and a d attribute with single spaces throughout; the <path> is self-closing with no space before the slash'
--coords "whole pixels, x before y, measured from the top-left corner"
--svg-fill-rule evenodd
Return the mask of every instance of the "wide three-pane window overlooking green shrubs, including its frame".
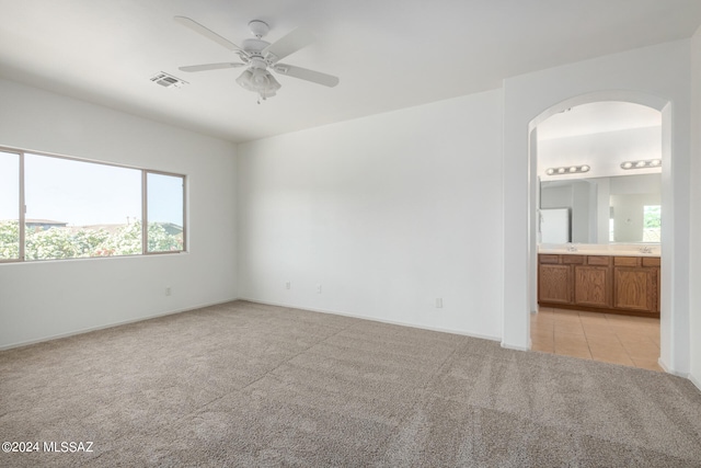
<path id="1" fill-rule="evenodd" d="M 184 199 L 184 175 L 0 151 L 0 261 L 182 252 Z"/>

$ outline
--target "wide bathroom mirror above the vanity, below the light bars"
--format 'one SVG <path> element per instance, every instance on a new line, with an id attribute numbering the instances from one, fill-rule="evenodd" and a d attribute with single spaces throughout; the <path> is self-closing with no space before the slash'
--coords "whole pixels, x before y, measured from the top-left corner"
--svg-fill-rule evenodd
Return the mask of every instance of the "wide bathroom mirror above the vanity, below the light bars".
<path id="1" fill-rule="evenodd" d="M 540 183 L 541 210 L 567 208 L 570 241 L 659 243 L 662 174 Z"/>

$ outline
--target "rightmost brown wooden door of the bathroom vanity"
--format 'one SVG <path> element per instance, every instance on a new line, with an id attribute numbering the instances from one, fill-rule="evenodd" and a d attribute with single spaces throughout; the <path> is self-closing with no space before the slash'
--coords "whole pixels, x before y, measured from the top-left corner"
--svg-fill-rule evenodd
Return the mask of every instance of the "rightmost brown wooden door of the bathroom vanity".
<path id="1" fill-rule="evenodd" d="M 613 269 L 613 307 L 641 312 L 657 310 L 655 269 L 616 266 Z"/>

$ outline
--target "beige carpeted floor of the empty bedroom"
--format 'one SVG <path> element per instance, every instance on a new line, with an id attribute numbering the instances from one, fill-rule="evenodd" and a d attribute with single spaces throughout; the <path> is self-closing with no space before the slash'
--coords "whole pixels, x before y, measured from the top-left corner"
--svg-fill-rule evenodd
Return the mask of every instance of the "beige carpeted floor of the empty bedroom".
<path id="1" fill-rule="evenodd" d="M 688 467 L 701 466 L 701 392 L 235 301 L 0 353 L 0 442 L 13 441 L 39 452 L 0 453 L 2 467 Z M 80 442 L 92 452 L 71 453 Z"/>

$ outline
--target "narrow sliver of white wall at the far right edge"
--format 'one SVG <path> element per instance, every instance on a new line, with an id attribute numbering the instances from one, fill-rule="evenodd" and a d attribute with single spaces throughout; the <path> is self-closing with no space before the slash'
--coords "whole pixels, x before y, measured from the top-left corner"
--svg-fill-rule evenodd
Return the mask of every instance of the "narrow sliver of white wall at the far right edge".
<path id="1" fill-rule="evenodd" d="M 691 380 L 701 389 L 701 28 L 691 42 L 691 251 L 689 255 L 689 333 L 691 342 Z"/>

